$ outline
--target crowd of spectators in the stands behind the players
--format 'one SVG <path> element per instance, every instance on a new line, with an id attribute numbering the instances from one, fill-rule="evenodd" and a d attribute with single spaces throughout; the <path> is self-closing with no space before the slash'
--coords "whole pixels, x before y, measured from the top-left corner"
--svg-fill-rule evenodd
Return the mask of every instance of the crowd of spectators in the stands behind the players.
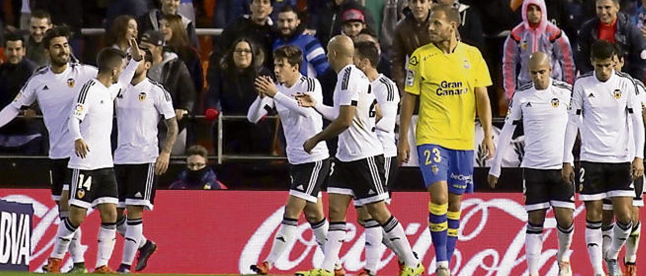
<path id="1" fill-rule="evenodd" d="M 172 96 L 180 126 L 172 154 L 185 155 L 193 144 L 214 153 L 216 124 L 200 115 L 207 120 L 218 114 L 244 116 L 257 95 L 253 79 L 273 75 L 271 53 L 279 46 L 302 50 L 300 72 L 320 81 L 326 104 L 332 101 L 336 74 L 325 46 L 338 34 L 377 43 L 378 72 L 402 92 L 408 57 L 429 43 L 430 6 L 443 3 L 461 15 L 459 39 L 483 53 L 494 83 L 488 88 L 494 117 L 502 116 L 514 91 L 530 82 L 526 66 L 533 52 L 550 55 L 552 77 L 572 84 L 576 75 L 592 70 L 590 45 L 604 39 L 625 51 L 625 72 L 644 78 L 646 1 L 602 2 L 608 5 L 596 8 L 596 0 L 5 1 L 0 6 L 0 107 L 48 63 L 43 37 L 52 26 L 72 30 L 74 55 L 86 64 L 96 64 L 104 46 L 127 52 L 129 39 L 140 38 L 153 55 L 149 77 Z M 82 35 L 83 28 L 105 28 L 105 35 Z M 222 34 L 198 36 L 196 28 L 220 28 Z M 25 119 L 0 128 L 0 153 L 44 155 L 47 132 L 30 119 L 39 114 L 38 106 L 21 113 Z M 226 121 L 224 152 L 284 155 L 280 132 L 280 123 L 271 119 Z"/>

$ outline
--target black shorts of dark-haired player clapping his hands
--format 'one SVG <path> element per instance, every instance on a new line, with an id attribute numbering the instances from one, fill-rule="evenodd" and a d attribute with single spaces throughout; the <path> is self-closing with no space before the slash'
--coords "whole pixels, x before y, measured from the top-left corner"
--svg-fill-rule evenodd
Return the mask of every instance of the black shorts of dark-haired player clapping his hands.
<path id="1" fill-rule="evenodd" d="M 329 159 L 289 165 L 289 194 L 316 203 L 330 168 Z"/>

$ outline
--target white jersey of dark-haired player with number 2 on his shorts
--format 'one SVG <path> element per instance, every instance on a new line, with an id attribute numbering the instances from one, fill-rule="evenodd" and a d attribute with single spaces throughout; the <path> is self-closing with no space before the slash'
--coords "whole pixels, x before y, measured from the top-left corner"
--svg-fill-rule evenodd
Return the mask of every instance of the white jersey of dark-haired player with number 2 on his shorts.
<path id="1" fill-rule="evenodd" d="M 581 75 L 574 83 L 571 115 L 583 115 L 581 161 L 624 163 L 632 161 L 629 113 L 641 118 L 636 86 L 627 74 L 614 72 L 601 82 L 594 75 Z M 643 147 L 641 147 L 643 148 Z M 641 155 L 641 153 L 640 153 Z"/>

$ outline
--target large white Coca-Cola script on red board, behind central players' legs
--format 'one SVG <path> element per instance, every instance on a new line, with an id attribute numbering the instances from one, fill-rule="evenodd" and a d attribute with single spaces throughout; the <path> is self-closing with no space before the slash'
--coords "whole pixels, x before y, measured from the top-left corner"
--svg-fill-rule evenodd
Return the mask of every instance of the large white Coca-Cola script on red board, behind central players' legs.
<path id="1" fill-rule="evenodd" d="M 520 228 L 517 230 L 516 235 L 510 241 L 509 244 L 499 244 L 499 241 L 485 241 L 485 238 L 479 239 L 479 236 L 485 230 L 486 224 L 490 217 L 490 209 L 497 209 L 503 211 L 509 217 L 516 218 L 517 221 L 522 222 Z M 256 229 L 256 232 L 251 235 L 247 244 L 245 244 L 244 249 L 240 253 L 240 259 L 238 261 L 238 270 L 242 274 L 253 273 L 249 270 L 249 264 L 255 264 L 260 259 L 260 253 L 263 251 L 266 246 L 271 248 L 271 239 L 274 236 L 273 233 L 280 226 L 282 221 L 284 206 L 280 206 L 273 214 L 271 214 L 267 219 L 260 224 Z M 578 216 L 583 211 L 583 205 L 581 204 L 574 212 L 574 217 Z M 479 221 L 478 221 L 479 218 Z M 507 219 L 507 218 L 505 218 Z M 460 250 L 460 243 L 458 243 L 457 248 L 455 248 L 454 259 L 455 266 L 452 268 L 452 275 L 457 276 L 470 276 L 475 275 L 476 271 L 479 275 L 499 275 L 506 276 L 512 275 L 512 270 L 517 266 L 525 266 L 526 255 L 520 255 L 521 250 L 525 248 L 525 223 L 527 221 L 527 215 L 523 205 L 519 204 L 516 201 L 510 199 L 491 199 L 490 201 L 483 201 L 483 199 L 472 198 L 466 199 L 463 201 L 463 219 L 460 223 L 459 230 L 459 241 L 464 243 L 472 241 L 477 241 L 481 244 L 481 248 L 475 253 L 470 252 L 470 256 L 464 255 Z M 467 224 L 476 225 L 475 228 L 470 227 L 470 232 L 464 232 L 464 226 Z M 357 226 L 353 223 L 348 222 L 348 232 L 346 233 L 346 242 L 351 242 L 353 239 L 357 238 L 354 241 L 349 249 L 345 252 L 340 252 L 339 259 L 342 262 L 344 268 L 349 271 L 357 271 L 363 268 L 365 261 L 361 260 L 361 254 L 364 251 L 365 237 L 364 233 L 357 232 Z M 406 229 L 406 235 L 409 236 L 409 240 L 412 244 L 412 249 L 415 251 L 419 259 L 424 260 L 426 253 L 433 254 L 432 242 L 430 237 L 430 232 L 426 228 L 427 222 L 410 222 L 404 228 Z M 554 218 L 548 218 L 545 220 L 545 237 L 543 239 L 548 239 L 550 235 L 554 233 L 556 228 L 556 220 Z M 492 227 L 490 225 L 489 229 L 499 229 Z M 278 270 L 293 270 L 293 269 L 307 269 L 314 266 L 320 265 L 323 261 L 324 255 L 318 245 L 314 235 L 311 239 L 304 239 L 302 236 L 303 232 L 309 230 L 309 224 L 304 223 L 298 226 L 297 238 L 295 241 L 287 244 L 286 252 L 278 258 L 275 263 L 275 268 Z M 413 242 L 412 239 L 417 237 L 417 241 Z M 292 255 L 291 251 L 297 245 L 296 243 L 302 244 L 298 248 L 304 249 L 301 252 L 297 252 L 296 259 L 289 259 L 289 256 Z M 314 250 L 313 257 L 306 259 L 309 253 Z M 503 251 L 506 250 L 506 251 Z M 390 252 L 389 255 L 384 257 L 386 252 L 386 247 L 381 246 L 382 257 L 380 259 L 378 268 L 384 268 L 391 261 L 397 261 L 397 257 L 394 253 Z M 570 254 L 572 251 L 568 252 Z M 558 263 L 556 259 L 550 259 L 556 255 L 556 249 L 546 249 L 541 253 L 541 266 L 547 266 L 549 268 L 548 275 L 556 275 L 558 272 Z M 466 259 L 470 258 L 470 259 Z M 430 263 L 425 263 L 424 265 L 427 268 L 427 271 L 435 271 L 435 256 L 431 255 Z M 305 263 L 302 263 L 305 261 Z M 548 263 L 550 261 L 551 263 Z M 484 270 L 484 271 L 483 271 Z M 528 271 L 524 269 L 524 274 L 527 275 Z M 429 272 L 430 274 L 431 272 Z M 514 274 L 518 271 L 514 271 Z"/>

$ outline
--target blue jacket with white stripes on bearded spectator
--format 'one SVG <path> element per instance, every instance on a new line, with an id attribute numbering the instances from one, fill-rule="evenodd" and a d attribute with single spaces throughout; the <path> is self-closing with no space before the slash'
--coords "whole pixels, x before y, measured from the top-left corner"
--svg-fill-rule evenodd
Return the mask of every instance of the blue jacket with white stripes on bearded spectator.
<path id="1" fill-rule="evenodd" d="M 302 33 L 302 28 L 297 28 L 296 35 L 289 38 L 277 38 L 274 41 L 272 50 L 283 45 L 298 46 L 303 51 L 303 63 L 300 66 L 300 74 L 307 77 L 317 77 L 329 70 L 328 58 L 318 39 Z"/>

